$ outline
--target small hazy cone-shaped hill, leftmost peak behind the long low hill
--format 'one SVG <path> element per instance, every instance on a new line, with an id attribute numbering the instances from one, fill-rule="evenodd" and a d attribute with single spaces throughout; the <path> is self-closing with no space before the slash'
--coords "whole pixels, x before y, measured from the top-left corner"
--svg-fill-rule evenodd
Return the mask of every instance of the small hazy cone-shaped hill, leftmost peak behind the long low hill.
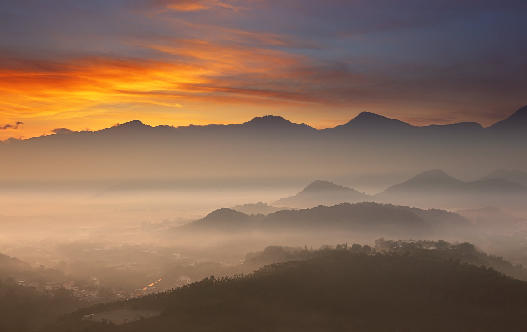
<path id="1" fill-rule="evenodd" d="M 333 205 L 343 202 L 359 202 L 369 196 L 363 192 L 338 185 L 333 182 L 316 180 L 292 197 L 284 197 L 275 201 L 275 206 L 291 206 L 295 208 L 310 208 L 314 206 Z"/>

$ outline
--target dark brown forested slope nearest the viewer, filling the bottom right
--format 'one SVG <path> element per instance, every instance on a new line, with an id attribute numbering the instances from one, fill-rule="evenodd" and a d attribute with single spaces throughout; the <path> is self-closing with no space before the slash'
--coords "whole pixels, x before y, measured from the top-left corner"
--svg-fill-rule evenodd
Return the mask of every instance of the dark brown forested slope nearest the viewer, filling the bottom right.
<path id="1" fill-rule="evenodd" d="M 437 256 L 322 250 L 250 276 L 103 305 L 161 309 L 114 326 L 81 309 L 46 331 L 524 331 L 527 282 Z"/>

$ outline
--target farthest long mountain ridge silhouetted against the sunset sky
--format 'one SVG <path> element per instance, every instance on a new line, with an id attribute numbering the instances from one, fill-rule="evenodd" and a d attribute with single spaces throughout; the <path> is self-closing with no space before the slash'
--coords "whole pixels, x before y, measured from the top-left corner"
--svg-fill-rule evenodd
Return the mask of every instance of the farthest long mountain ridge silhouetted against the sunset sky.
<path id="1" fill-rule="evenodd" d="M 519 148 L 527 144 L 526 110 L 490 128 L 470 122 L 413 126 L 372 112 L 323 130 L 275 115 L 240 124 L 178 127 L 133 120 L 99 131 L 4 142 L 3 160 L 17 162 L 0 163 L 0 177 L 320 178 L 349 174 L 350 168 L 356 174 L 408 173 L 438 164 L 471 174 L 489 167 L 521 169 L 527 164 Z"/>

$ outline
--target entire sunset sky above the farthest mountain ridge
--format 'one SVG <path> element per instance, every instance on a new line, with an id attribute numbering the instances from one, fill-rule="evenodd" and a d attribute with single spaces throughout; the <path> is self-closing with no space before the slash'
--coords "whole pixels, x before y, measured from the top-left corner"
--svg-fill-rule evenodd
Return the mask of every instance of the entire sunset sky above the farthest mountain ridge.
<path id="1" fill-rule="evenodd" d="M 6 0 L 0 140 L 362 111 L 484 126 L 527 104 L 527 2 Z"/>

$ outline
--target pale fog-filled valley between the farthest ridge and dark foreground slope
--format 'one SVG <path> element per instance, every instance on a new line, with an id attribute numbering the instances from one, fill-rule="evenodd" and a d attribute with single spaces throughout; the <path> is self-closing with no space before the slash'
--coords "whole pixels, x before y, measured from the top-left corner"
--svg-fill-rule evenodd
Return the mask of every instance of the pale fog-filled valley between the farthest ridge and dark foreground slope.
<path id="1" fill-rule="evenodd" d="M 343 248 L 446 250 L 527 280 L 523 133 L 270 120 L 132 122 L 0 146 L 0 280 L 75 299 L 34 327 Z"/>

